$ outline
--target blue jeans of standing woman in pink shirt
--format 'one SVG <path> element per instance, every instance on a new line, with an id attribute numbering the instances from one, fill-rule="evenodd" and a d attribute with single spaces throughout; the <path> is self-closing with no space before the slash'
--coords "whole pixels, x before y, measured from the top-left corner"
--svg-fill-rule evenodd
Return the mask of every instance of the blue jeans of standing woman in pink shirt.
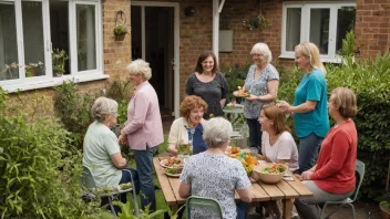
<path id="1" fill-rule="evenodd" d="M 146 150 L 134 150 L 134 159 L 141 182 L 141 208 L 145 209 L 151 204 L 150 210 L 156 210 L 156 195 L 153 184 L 153 154 L 158 148 L 146 147 Z"/>

